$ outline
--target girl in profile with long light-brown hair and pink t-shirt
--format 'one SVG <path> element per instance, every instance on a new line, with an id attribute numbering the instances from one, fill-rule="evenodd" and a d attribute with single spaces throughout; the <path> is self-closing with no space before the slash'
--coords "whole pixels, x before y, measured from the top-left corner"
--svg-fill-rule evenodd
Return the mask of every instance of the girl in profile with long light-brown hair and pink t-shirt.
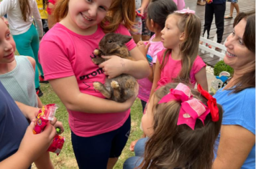
<path id="1" fill-rule="evenodd" d="M 201 21 L 189 9 L 175 11 L 165 21 L 162 42 L 166 48 L 157 54 L 154 81 L 150 97 L 155 89 L 175 81 L 183 81 L 195 87 L 201 84 L 208 91 L 206 64 L 198 56 Z"/>

